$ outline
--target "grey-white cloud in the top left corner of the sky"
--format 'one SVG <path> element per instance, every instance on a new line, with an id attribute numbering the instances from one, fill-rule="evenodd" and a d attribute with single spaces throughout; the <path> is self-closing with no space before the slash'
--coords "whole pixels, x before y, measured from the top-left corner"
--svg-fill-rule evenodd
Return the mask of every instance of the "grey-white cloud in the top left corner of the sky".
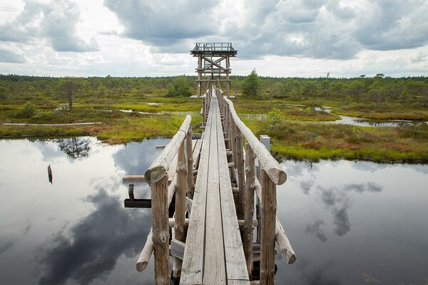
<path id="1" fill-rule="evenodd" d="M 78 37 L 79 17 L 78 6 L 68 0 L 49 4 L 26 1 L 24 10 L 14 21 L 0 26 L 0 41 L 29 42 L 45 38 L 55 51 L 98 51 L 94 38 L 86 43 Z"/>

